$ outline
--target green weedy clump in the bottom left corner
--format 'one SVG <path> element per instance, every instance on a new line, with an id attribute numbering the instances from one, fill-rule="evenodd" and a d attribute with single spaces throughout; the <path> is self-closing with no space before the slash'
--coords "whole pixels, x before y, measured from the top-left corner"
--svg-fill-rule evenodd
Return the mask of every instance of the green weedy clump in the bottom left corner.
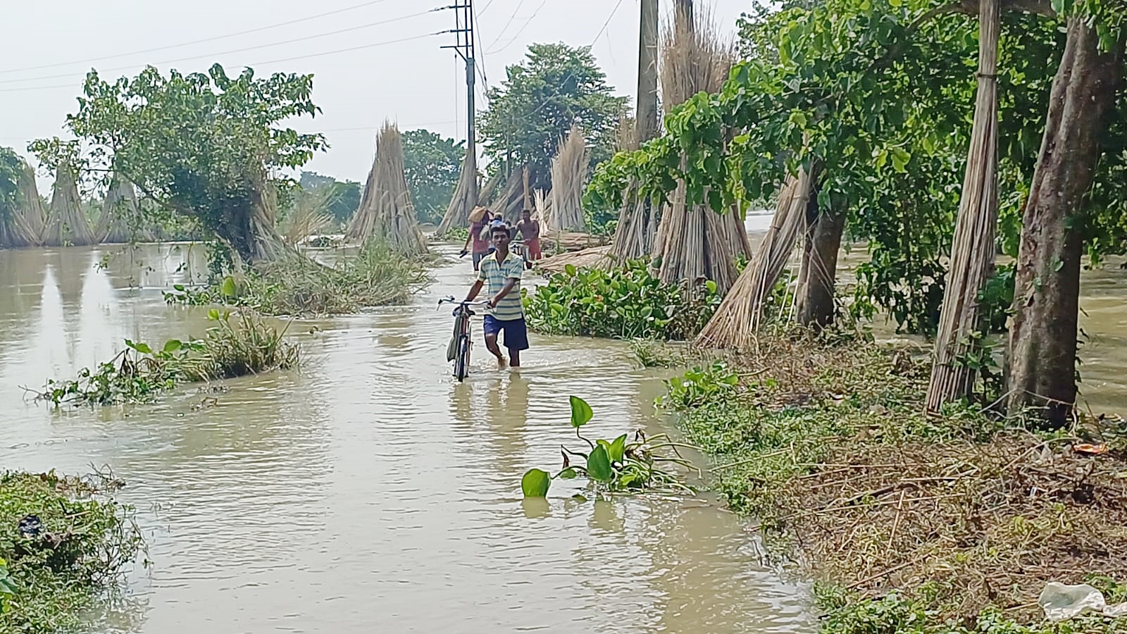
<path id="1" fill-rule="evenodd" d="M 143 547 L 119 483 L 47 474 L 0 475 L 0 633 L 74 631 L 124 581 Z M 21 532 L 35 516 L 37 531 Z"/>

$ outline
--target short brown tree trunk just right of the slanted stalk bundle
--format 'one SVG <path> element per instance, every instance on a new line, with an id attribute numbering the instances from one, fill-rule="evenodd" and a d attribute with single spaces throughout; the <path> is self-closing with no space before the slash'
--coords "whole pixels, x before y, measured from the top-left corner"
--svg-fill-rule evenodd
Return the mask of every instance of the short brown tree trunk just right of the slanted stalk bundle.
<path id="1" fill-rule="evenodd" d="M 817 199 L 811 196 L 810 200 Z M 817 214 L 808 237 L 799 285 L 798 322 L 817 331 L 834 322 L 837 252 L 844 231 L 845 214 L 823 210 Z"/>

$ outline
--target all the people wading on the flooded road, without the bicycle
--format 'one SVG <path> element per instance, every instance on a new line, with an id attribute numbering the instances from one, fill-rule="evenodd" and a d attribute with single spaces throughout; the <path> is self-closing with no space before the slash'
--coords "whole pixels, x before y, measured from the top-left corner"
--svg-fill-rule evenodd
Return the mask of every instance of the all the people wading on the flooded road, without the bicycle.
<path id="1" fill-rule="evenodd" d="M 524 255 L 509 252 L 513 232 L 524 243 Z M 473 244 L 473 270 L 477 280 L 470 287 L 465 301 L 473 301 L 481 289 L 489 296 L 486 307 L 486 347 L 497 358 L 497 366 L 521 367 L 521 351 L 529 349 L 529 329 L 524 323 L 524 306 L 521 301 L 521 278 L 524 270 L 541 258 L 540 223 L 532 219 L 532 211 L 521 212 L 521 221 L 511 228 L 500 214 L 494 214 L 483 206 L 470 212 L 470 235 L 462 245 L 462 256 Z M 497 345 L 497 337 L 505 333 L 508 360 Z"/>

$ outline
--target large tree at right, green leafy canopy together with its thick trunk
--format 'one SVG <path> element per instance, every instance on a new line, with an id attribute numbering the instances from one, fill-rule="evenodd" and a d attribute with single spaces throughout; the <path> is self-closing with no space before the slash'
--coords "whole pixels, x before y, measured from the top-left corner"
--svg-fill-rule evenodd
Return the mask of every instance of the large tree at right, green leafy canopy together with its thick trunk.
<path id="1" fill-rule="evenodd" d="M 1045 396 L 1063 410 L 1071 405 L 1082 245 L 1092 256 L 1106 255 L 1122 252 L 1127 236 L 1120 185 L 1127 103 L 1113 97 L 1122 87 L 1124 12 L 1121 3 L 1101 2 L 1002 5 L 1001 243 L 1017 255 L 1018 232 L 1024 235 L 1012 411 Z M 1104 10 L 1112 5 L 1117 9 Z M 977 9 L 973 2 L 827 0 L 766 12 L 752 29 L 754 55 L 725 88 L 677 108 L 665 137 L 601 166 L 593 197 L 613 199 L 632 182 L 662 196 L 684 178 L 690 197 L 725 210 L 769 196 L 787 174 L 817 166 L 811 236 L 823 218 L 836 220 L 827 212 L 846 213 L 845 230 L 872 252 L 860 272 L 862 299 L 929 331 L 962 194 L 977 47 L 977 25 L 967 14 Z M 1073 116 L 1067 125 L 1064 113 Z M 684 164 L 681 152 L 689 156 Z M 1035 166 L 1057 175 L 1035 176 Z M 1042 211 L 1031 215 L 1036 208 Z M 833 239 L 819 245 L 836 248 Z M 968 301 L 980 301 L 973 293 L 985 291 L 968 289 Z M 1059 396 L 1046 394 L 1049 388 Z"/>

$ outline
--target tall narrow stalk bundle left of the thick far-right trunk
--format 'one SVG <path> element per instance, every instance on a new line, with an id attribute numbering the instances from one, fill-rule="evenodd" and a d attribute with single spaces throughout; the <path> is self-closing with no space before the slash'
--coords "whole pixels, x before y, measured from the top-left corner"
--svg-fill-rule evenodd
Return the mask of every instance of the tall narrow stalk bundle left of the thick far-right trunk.
<path id="1" fill-rule="evenodd" d="M 928 411 L 969 397 L 975 370 L 960 362 L 973 352 L 978 329 L 978 293 L 994 268 L 997 223 L 997 46 L 1000 0 L 982 0 L 978 9 L 978 95 L 967 171 L 955 224 L 951 265 L 935 335 L 934 362 L 928 387 Z"/>

